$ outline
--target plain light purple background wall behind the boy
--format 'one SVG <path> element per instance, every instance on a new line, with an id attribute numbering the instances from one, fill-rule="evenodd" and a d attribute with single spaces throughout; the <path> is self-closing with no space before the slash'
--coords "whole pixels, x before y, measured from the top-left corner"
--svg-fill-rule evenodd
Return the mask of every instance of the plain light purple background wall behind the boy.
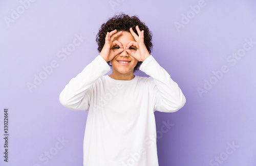
<path id="1" fill-rule="evenodd" d="M 20 1 L 1 1 L 0 137 L 4 137 L 4 108 L 9 108 L 10 135 L 8 163 L 0 139 L 0 165 L 82 165 L 88 112 L 68 110 L 58 97 L 99 54 L 98 29 L 116 12 L 136 14 L 146 23 L 153 33 L 152 55 L 187 100 L 176 113 L 155 112 L 159 165 L 256 165 L 256 45 L 236 64 L 230 58 L 241 53 L 246 39 L 256 41 L 256 2 L 205 0 L 193 15 L 190 6 L 198 4 L 190 0 L 35 1 L 30 6 L 25 3 L 25 9 Z M 18 18 L 14 11 L 21 13 Z M 177 28 L 182 14 L 190 14 L 189 22 Z M 15 19 L 7 23 L 7 17 Z M 75 34 L 86 39 L 65 60 L 59 58 L 58 51 L 67 48 Z M 34 84 L 35 75 L 51 62 L 57 67 L 30 92 L 28 82 Z M 216 78 L 213 72 L 223 65 L 228 72 Z M 141 71 L 136 74 L 146 76 Z M 205 80 L 214 84 L 200 96 L 198 88 L 204 89 Z M 173 125 L 166 133 L 161 132 L 164 122 Z M 66 143 L 59 144 L 59 139 Z M 230 144 L 235 145 L 233 150 L 228 149 Z"/>

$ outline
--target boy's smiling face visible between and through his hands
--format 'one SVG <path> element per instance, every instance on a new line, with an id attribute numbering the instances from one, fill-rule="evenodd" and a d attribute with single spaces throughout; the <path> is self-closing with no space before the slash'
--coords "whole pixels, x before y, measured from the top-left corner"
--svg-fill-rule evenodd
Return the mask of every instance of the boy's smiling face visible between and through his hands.
<path id="1" fill-rule="evenodd" d="M 122 74 L 129 74 L 133 73 L 134 67 L 137 65 L 138 60 L 130 56 L 125 50 L 128 43 L 131 41 L 136 41 L 133 37 L 133 35 L 130 32 L 123 31 L 120 36 L 118 36 L 115 40 L 119 41 L 124 50 L 119 53 L 116 57 L 113 58 L 113 60 L 110 61 L 114 72 L 119 72 Z M 118 45 L 115 45 L 112 49 L 115 51 L 115 49 L 119 49 L 120 47 Z M 137 48 L 135 46 L 131 46 L 130 48 L 132 51 L 136 52 Z"/>

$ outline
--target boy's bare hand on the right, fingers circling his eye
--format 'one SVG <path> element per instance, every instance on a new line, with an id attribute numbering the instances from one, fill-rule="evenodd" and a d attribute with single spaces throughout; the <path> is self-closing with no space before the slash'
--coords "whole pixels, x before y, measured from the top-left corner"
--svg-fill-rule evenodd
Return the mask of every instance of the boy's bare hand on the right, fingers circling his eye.
<path id="1" fill-rule="evenodd" d="M 144 61 L 147 57 L 150 56 L 150 53 L 146 49 L 146 46 L 144 44 L 144 31 L 140 31 L 139 26 L 136 26 L 136 30 L 139 34 L 135 34 L 133 31 L 132 27 L 130 27 L 131 34 L 133 35 L 135 41 L 131 41 L 130 43 L 127 44 L 127 47 L 125 48 L 126 51 L 135 59 L 138 61 Z M 130 46 L 135 46 L 137 48 L 136 52 L 133 52 L 130 48 Z"/>

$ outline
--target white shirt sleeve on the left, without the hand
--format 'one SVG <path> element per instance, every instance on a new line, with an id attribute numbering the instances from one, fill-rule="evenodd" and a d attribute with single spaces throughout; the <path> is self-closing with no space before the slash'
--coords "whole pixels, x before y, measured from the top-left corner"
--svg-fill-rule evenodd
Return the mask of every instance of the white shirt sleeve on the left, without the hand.
<path id="1" fill-rule="evenodd" d="M 108 63 L 101 56 L 97 56 L 81 73 L 69 81 L 59 95 L 60 103 L 70 110 L 88 110 L 92 85 L 110 70 Z"/>

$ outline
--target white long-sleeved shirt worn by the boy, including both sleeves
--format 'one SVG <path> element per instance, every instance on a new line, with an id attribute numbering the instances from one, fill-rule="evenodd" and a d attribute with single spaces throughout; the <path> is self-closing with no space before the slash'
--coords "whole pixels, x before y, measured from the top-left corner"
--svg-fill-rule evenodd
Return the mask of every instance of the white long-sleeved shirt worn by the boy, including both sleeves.
<path id="1" fill-rule="evenodd" d="M 176 112 L 186 99 L 152 55 L 139 69 L 150 77 L 116 80 L 97 56 L 60 93 L 67 109 L 89 110 L 84 166 L 158 166 L 154 112 Z"/>

